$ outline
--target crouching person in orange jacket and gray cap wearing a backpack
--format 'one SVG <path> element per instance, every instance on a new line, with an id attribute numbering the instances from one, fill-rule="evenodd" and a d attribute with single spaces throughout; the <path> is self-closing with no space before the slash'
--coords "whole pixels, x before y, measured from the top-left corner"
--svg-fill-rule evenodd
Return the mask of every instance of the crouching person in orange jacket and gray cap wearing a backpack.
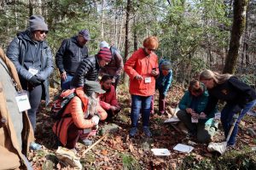
<path id="1" fill-rule="evenodd" d="M 61 120 L 55 122 L 53 131 L 61 144 L 74 149 L 79 138 L 90 135 L 99 121 L 108 116 L 99 105 L 99 94 L 105 93 L 99 82 L 86 81 L 84 87 L 75 89 L 76 96 L 67 104 Z"/>

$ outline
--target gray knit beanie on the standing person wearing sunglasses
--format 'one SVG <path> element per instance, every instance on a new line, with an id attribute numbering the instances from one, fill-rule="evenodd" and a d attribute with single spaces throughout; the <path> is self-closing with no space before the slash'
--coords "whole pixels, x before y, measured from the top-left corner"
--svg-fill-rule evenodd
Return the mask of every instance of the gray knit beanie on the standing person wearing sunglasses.
<path id="1" fill-rule="evenodd" d="M 48 26 L 44 22 L 44 17 L 41 15 L 32 15 L 29 18 L 29 27 L 30 31 L 36 31 L 36 30 L 42 30 L 42 31 L 48 31 Z"/>

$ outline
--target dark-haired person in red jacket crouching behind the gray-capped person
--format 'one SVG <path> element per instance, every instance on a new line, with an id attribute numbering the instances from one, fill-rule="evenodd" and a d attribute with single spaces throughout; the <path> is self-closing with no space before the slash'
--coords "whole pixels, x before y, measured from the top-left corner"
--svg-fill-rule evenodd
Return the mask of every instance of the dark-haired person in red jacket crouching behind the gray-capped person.
<path id="1" fill-rule="evenodd" d="M 107 111 L 108 119 L 116 115 L 121 110 L 119 102 L 116 99 L 115 88 L 112 85 L 113 76 L 104 75 L 101 80 L 102 89 L 106 91 L 105 94 L 100 94 L 100 104 L 102 108 Z"/>

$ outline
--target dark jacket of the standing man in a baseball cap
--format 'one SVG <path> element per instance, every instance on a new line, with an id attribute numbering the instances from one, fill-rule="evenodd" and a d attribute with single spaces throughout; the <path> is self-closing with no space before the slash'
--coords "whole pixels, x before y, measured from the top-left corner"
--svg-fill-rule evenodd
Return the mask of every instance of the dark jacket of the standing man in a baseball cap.
<path id="1" fill-rule="evenodd" d="M 55 63 L 61 73 L 64 71 L 69 75 L 74 75 L 80 61 L 88 57 L 88 48 L 80 46 L 78 36 L 63 40 L 61 47 L 56 53 Z"/>

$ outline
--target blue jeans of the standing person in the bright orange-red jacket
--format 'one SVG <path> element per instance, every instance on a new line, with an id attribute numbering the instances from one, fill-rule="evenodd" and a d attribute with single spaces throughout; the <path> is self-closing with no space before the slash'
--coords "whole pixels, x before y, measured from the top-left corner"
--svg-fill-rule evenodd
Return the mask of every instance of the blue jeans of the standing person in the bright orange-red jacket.
<path id="1" fill-rule="evenodd" d="M 143 127 L 148 127 L 151 99 L 152 96 L 131 95 L 131 127 L 137 127 L 141 112 L 143 116 Z"/>

